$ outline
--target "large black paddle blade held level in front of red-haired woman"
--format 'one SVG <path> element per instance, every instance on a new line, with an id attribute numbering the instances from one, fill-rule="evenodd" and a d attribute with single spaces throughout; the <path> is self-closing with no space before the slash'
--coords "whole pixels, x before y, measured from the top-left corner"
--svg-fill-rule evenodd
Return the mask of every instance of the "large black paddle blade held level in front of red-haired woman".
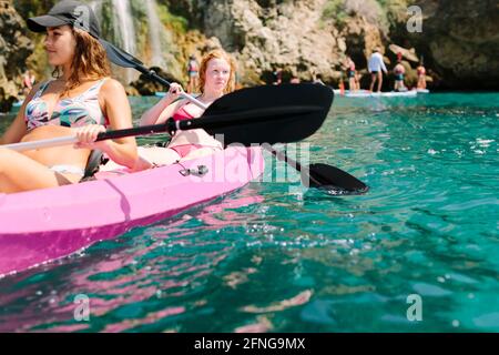
<path id="1" fill-rule="evenodd" d="M 333 90 L 315 84 L 242 89 L 216 100 L 192 123 L 203 123 L 212 135 L 223 134 L 225 144 L 297 142 L 322 126 L 333 98 Z M 217 124 L 210 124 L 212 116 Z"/>

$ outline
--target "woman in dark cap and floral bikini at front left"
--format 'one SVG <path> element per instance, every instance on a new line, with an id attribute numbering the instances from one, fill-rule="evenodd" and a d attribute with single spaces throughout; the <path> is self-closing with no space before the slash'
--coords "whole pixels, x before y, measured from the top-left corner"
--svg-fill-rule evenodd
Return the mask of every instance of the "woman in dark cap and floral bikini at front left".
<path id="1" fill-rule="evenodd" d="M 0 144 L 67 135 L 77 135 L 79 143 L 23 153 L 0 149 L 0 192 L 77 183 L 94 149 L 132 168 L 138 156 L 133 138 L 95 142 L 105 126 L 131 128 L 132 119 L 123 87 L 109 78 L 92 10 L 78 1 L 61 1 L 49 14 L 29 19 L 28 27 L 47 32 L 44 48 L 54 79 L 31 90 Z"/>

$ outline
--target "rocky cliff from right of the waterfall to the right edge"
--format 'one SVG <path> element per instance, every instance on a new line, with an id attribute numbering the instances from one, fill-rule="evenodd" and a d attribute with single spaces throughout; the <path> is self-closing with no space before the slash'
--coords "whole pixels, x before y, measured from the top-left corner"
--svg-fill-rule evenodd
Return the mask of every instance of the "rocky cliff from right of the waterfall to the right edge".
<path id="1" fill-rule="evenodd" d="M 432 88 L 499 89 L 497 0 L 164 0 L 240 62 L 244 83 L 285 77 L 310 79 L 314 70 L 337 84 L 345 55 L 365 68 L 375 47 L 394 64 L 390 43 L 414 49 L 435 78 Z M 420 32 L 408 31 L 418 6 Z M 405 62 L 409 85 L 416 62 Z M 367 78 L 366 78 L 367 79 Z"/>

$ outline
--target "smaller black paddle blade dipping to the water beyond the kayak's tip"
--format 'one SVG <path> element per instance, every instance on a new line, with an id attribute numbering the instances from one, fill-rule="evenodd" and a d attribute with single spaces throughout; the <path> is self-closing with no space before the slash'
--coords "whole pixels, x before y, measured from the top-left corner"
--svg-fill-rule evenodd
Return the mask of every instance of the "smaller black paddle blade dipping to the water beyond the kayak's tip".
<path id="1" fill-rule="evenodd" d="M 347 172 L 327 164 L 312 164 L 302 170 L 302 182 L 307 187 L 327 190 L 334 195 L 363 194 L 369 190 L 365 183 Z"/>

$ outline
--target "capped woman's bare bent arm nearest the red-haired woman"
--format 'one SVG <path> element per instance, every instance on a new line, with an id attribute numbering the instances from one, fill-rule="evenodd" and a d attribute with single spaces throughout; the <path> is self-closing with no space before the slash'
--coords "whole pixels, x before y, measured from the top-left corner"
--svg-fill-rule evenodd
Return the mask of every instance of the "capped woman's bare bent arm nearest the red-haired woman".
<path id="1" fill-rule="evenodd" d="M 99 99 L 103 102 L 105 115 L 112 130 L 132 128 L 132 110 L 123 85 L 116 80 L 106 80 Z M 94 143 L 108 156 L 120 165 L 133 168 L 138 159 L 135 138 L 128 136 Z"/>

